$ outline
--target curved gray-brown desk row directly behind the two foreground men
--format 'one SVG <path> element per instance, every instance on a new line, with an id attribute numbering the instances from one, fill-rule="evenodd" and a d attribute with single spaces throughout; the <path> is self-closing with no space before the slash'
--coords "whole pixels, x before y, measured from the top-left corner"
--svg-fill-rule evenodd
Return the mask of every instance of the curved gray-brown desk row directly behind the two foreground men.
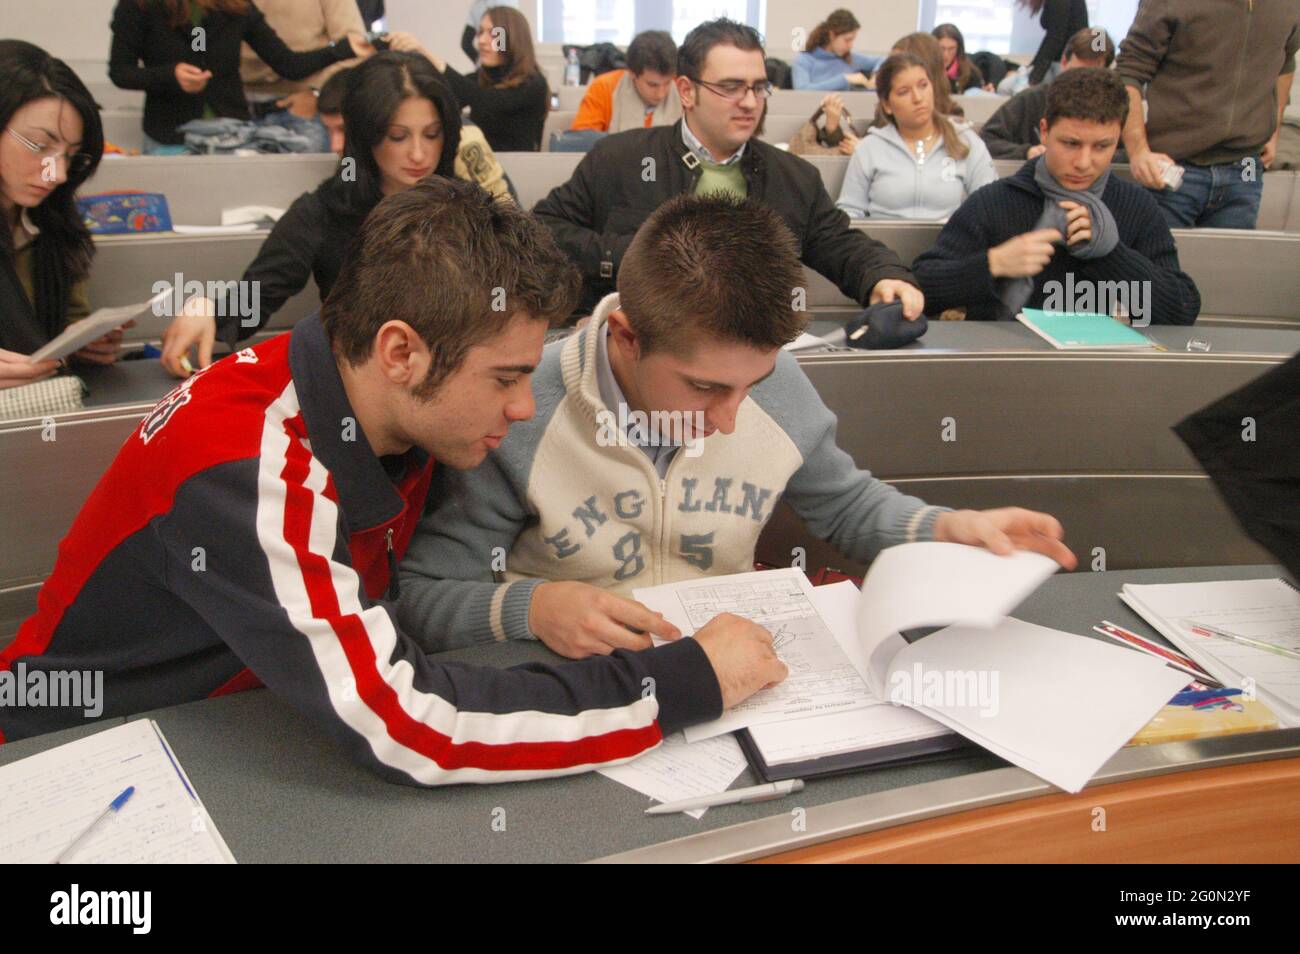
<path id="1" fill-rule="evenodd" d="M 833 322 L 816 321 L 827 333 Z M 1018 503 L 1050 511 L 1080 556 L 1110 569 L 1248 564 L 1271 559 L 1247 539 L 1210 481 L 1169 430 L 1300 347 L 1300 333 L 1167 328 L 1166 352 L 1058 352 L 1018 322 L 932 322 L 900 351 L 840 351 L 801 364 L 838 416 L 838 443 L 901 490 L 953 507 Z M 1186 350 L 1190 338 L 1208 354 Z M 0 641 L 35 607 L 58 541 L 122 441 L 176 381 L 157 361 L 83 373 L 82 411 L 0 424 Z M 956 441 L 942 439 L 942 420 Z M 1188 520 L 1188 515 L 1196 520 Z M 759 559 L 853 568 L 807 538 L 781 506 Z M 1091 559 L 1089 556 L 1089 559 Z"/>

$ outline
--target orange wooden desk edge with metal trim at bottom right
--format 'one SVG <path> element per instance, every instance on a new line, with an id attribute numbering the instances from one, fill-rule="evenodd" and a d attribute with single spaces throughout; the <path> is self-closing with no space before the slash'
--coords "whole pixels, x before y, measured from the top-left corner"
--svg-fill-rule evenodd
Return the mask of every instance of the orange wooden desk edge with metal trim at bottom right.
<path id="1" fill-rule="evenodd" d="M 1296 860 L 1300 729 L 1123 749 L 1076 795 L 1000 768 L 814 806 L 805 831 L 785 801 L 766 819 L 595 860 Z"/>

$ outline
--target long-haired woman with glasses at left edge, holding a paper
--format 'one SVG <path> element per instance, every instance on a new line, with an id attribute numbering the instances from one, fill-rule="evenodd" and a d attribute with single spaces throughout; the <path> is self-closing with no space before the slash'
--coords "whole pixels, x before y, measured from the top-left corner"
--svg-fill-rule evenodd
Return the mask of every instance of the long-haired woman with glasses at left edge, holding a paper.
<path id="1" fill-rule="evenodd" d="M 95 244 L 74 194 L 99 166 L 99 108 L 77 74 L 40 47 L 0 40 L 0 387 L 49 377 L 27 355 L 90 313 Z M 122 333 L 75 357 L 110 364 Z"/>

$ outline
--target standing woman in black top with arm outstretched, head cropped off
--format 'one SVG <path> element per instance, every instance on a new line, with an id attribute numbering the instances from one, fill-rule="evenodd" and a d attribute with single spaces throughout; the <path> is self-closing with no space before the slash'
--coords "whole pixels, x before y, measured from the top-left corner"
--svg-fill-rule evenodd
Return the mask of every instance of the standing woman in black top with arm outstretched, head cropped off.
<path id="1" fill-rule="evenodd" d="M 328 47 L 295 53 L 251 0 L 118 0 L 112 27 L 108 75 L 124 90 L 144 90 L 146 151 L 153 148 L 148 140 L 183 143 L 177 126 L 190 120 L 248 118 L 239 79 L 239 44 L 246 40 L 287 79 L 303 79 L 374 49 L 361 34 L 348 34 Z"/>

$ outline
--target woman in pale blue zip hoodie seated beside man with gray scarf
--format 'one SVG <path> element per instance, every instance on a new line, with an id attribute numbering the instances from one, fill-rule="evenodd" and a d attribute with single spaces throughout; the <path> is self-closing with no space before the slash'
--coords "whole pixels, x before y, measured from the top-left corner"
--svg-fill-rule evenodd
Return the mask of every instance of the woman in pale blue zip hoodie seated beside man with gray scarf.
<path id="1" fill-rule="evenodd" d="M 894 53 L 876 74 L 876 125 L 862 138 L 836 203 L 850 218 L 946 218 L 997 179 L 974 130 L 935 110 L 924 61 Z"/>

